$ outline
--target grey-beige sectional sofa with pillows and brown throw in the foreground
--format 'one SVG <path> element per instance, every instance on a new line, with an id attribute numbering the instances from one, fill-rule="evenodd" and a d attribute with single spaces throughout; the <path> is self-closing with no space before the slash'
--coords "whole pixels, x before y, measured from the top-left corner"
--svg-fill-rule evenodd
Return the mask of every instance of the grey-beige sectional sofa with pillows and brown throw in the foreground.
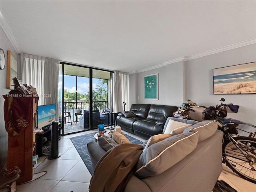
<path id="1" fill-rule="evenodd" d="M 125 192 L 211 192 L 214 188 L 222 171 L 223 133 L 217 129 L 217 123 L 214 121 L 188 122 L 177 118 L 172 120 L 183 121 L 192 126 L 186 128 L 181 134 L 167 137 L 141 151 L 138 159 L 133 159 L 136 163 L 132 176 L 126 180 L 127 183 L 121 183 Z M 111 144 L 115 141 L 108 142 Z M 120 158 L 123 158 L 123 154 L 118 153 L 113 156 L 113 152 L 118 151 L 115 149 L 122 145 L 125 146 L 122 151 L 127 150 L 129 144 L 114 144 L 114 147 L 110 147 L 106 152 L 98 143 L 88 143 L 92 171 L 99 168 L 100 164 L 104 165 L 106 161 L 108 164 L 111 162 L 113 166 L 111 169 L 117 166 L 115 169 L 118 170 L 119 167 L 116 164 Z M 131 147 L 133 145 L 130 144 Z M 111 153 L 112 157 L 109 161 L 108 155 Z M 97 174 L 94 174 L 91 180 L 92 186 L 97 178 Z M 113 178 L 116 176 L 113 176 L 113 172 L 108 175 L 108 172 L 102 171 L 101 174 L 104 174 L 102 178 L 111 178 L 111 182 L 115 184 Z M 106 182 L 108 187 L 111 182 Z"/>

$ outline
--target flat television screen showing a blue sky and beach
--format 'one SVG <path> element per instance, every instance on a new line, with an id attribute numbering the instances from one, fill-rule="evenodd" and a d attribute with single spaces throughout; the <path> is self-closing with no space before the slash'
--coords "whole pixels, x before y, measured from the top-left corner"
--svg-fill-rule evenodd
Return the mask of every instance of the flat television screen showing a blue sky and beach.
<path id="1" fill-rule="evenodd" d="M 56 104 L 37 107 L 38 129 L 44 128 L 56 120 Z"/>

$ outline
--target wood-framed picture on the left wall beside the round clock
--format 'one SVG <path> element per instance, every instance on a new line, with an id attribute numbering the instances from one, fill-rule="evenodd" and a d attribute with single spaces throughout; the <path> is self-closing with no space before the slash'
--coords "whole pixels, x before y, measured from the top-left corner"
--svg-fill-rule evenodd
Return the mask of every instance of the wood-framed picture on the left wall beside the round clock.
<path id="1" fill-rule="evenodd" d="M 6 75 L 6 88 L 14 89 L 12 87 L 12 78 L 17 77 L 17 60 L 10 50 L 7 50 L 7 75 Z"/>

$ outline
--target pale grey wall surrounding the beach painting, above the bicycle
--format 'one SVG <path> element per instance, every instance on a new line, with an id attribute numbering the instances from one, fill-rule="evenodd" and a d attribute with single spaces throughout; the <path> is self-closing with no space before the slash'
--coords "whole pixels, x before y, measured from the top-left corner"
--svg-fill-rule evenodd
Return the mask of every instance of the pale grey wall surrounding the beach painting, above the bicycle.
<path id="1" fill-rule="evenodd" d="M 198 105 L 226 103 L 239 105 L 238 113 L 228 117 L 256 125 L 256 94 L 213 94 L 212 69 L 256 62 L 256 44 L 200 57 L 185 62 L 185 96 Z"/>

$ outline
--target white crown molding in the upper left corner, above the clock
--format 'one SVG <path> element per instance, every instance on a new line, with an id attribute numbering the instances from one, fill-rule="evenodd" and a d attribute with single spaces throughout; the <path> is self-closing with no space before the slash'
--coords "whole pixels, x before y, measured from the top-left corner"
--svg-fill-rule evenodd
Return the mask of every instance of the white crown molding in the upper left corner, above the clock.
<path id="1" fill-rule="evenodd" d="M 0 26 L 2 27 L 2 29 L 4 30 L 6 36 L 9 38 L 12 46 L 14 47 L 14 49 L 16 50 L 17 53 L 21 53 L 21 49 L 20 46 L 16 40 L 16 38 L 14 37 L 14 35 L 12 34 L 12 30 L 8 24 L 8 22 L 6 21 L 6 19 L 4 18 L 4 16 L 2 15 L 1 11 L 0 11 Z"/>

